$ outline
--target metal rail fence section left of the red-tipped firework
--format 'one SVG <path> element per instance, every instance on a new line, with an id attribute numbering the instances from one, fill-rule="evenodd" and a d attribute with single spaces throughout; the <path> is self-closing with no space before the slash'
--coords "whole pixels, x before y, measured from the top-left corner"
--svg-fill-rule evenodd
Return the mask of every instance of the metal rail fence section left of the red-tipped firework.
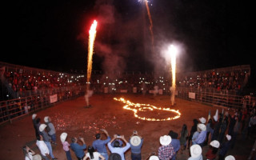
<path id="1" fill-rule="evenodd" d="M 38 90 L 37 93 L 26 92 L 24 95 L 27 96 L 0 102 L 0 125 L 4 122 L 11 122 L 15 118 L 54 106 L 58 102 L 78 98 L 84 94 L 85 87 L 83 86 Z M 50 101 L 51 95 L 57 96 L 56 102 Z"/>

